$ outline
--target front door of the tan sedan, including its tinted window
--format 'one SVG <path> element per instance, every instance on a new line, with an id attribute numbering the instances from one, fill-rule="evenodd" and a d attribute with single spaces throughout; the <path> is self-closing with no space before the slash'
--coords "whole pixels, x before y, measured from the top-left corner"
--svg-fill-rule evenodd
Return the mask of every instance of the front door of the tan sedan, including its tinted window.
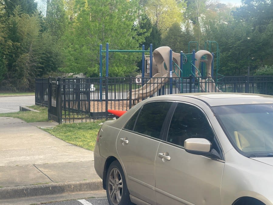
<path id="1" fill-rule="evenodd" d="M 220 152 L 204 113 L 193 105 L 177 103 L 166 130 L 166 141 L 159 144 L 155 160 L 157 204 L 219 205 L 224 161 L 183 148 L 188 138 L 206 138 Z"/>

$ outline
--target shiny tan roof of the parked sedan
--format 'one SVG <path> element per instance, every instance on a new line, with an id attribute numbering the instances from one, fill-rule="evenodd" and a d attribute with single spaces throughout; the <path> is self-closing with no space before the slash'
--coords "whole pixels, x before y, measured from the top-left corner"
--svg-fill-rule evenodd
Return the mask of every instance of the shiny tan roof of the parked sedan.
<path id="1" fill-rule="evenodd" d="M 243 105 L 243 104 L 273 104 L 273 96 L 249 94 L 249 93 L 227 93 L 227 92 L 206 92 L 206 93 L 184 93 L 167 95 L 169 100 L 183 101 L 186 98 L 195 98 L 206 102 L 210 106 Z M 159 96 L 163 97 L 163 96 Z M 183 97 L 183 98 L 181 98 Z M 168 97 L 164 97 L 166 100 Z M 157 99 L 159 100 L 159 99 Z M 188 100 L 187 100 L 188 101 Z"/>

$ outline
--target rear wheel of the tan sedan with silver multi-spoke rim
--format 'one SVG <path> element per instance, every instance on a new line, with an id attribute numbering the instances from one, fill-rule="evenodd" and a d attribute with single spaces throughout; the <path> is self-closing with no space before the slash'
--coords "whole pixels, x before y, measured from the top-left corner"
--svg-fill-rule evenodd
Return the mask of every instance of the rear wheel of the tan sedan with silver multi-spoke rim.
<path id="1" fill-rule="evenodd" d="M 112 162 L 107 170 L 106 193 L 110 205 L 131 205 L 125 175 L 120 163 Z"/>

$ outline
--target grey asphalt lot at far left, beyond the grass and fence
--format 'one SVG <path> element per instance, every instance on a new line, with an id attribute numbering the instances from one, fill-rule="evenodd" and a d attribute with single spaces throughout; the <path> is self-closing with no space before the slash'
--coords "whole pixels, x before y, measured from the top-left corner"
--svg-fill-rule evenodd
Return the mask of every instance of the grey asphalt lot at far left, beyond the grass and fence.
<path id="1" fill-rule="evenodd" d="M 17 112 L 20 105 L 35 105 L 35 96 L 0 97 L 0 113 Z"/>

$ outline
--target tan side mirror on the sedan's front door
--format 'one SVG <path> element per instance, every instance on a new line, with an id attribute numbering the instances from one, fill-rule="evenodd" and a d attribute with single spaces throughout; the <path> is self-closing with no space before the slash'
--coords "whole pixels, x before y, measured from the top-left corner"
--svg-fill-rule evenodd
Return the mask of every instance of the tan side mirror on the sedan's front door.
<path id="1" fill-rule="evenodd" d="M 211 149 L 211 143 L 204 138 L 189 138 L 184 141 L 184 148 L 186 152 L 194 155 L 203 155 L 212 158 L 221 159 L 220 155 L 215 149 Z"/>

